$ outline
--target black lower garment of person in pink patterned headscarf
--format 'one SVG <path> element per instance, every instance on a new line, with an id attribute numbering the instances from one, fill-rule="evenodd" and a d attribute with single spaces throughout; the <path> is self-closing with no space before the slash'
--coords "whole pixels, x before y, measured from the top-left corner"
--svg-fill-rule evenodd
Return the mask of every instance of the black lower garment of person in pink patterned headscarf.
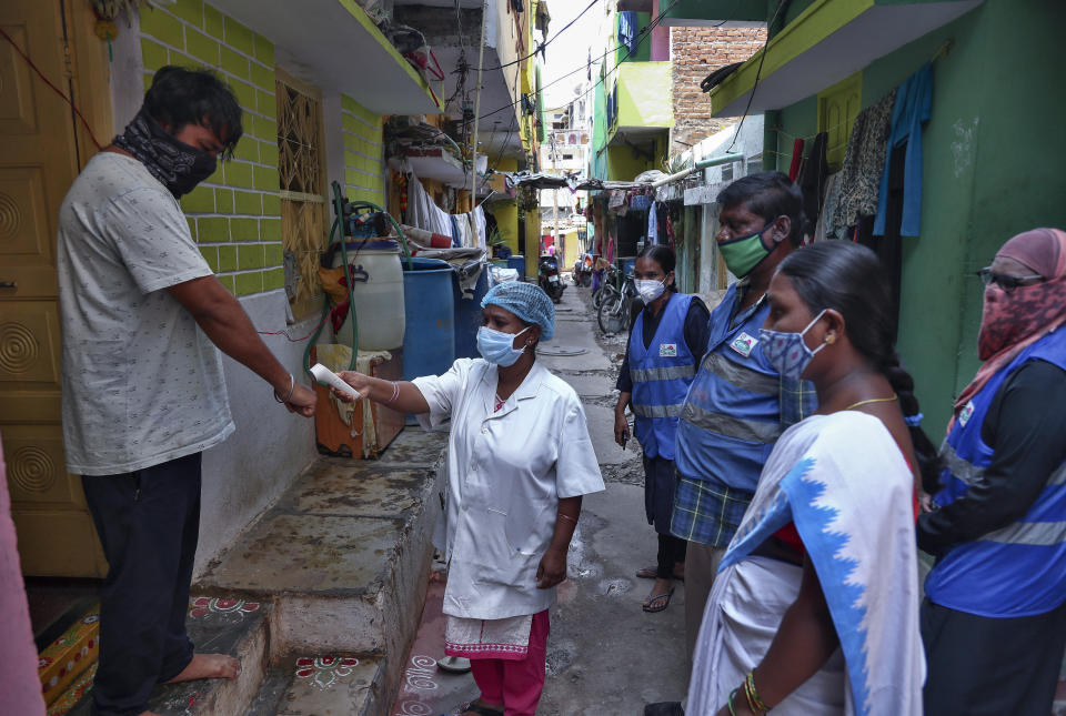
<path id="1" fill-rule="evenodd" d="M 1066 605 L 1006 619 L 922 603 L 928 675 L 925 713 L 1044 716 L 1052 713 L 1066 648 Z"/>

